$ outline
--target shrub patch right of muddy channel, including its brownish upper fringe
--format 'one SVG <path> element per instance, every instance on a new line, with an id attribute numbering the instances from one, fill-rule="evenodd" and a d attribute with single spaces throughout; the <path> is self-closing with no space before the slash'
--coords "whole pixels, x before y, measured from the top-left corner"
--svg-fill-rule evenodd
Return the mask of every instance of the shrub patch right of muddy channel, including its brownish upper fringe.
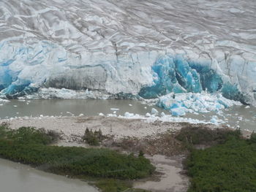
<path id="1" fill-rule="evenodd" d="M 192 128 L 177 139 L 190 153 L 184 162 L 191 177 L 189 192 L 256 191 L 256 135 L 243 139 L 239 130 Z M 195 145 L 211 145 L 204 150 Z"/>

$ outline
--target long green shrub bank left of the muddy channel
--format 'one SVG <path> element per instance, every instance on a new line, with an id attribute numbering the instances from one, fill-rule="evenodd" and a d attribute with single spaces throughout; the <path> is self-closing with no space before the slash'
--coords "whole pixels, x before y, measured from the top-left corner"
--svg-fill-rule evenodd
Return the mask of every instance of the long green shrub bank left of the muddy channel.
<path id="1" fill-rule="evenodd" d="M 154 172 L 154 166 L 144 157 L 108 149 L 48 146 L 51 138 L 42 130 L 20 128 L 5 134 L 7 137 L 0 138 L 2 158 L 39 166 L 48 172 L 118 179 L 136 179 Z"/>

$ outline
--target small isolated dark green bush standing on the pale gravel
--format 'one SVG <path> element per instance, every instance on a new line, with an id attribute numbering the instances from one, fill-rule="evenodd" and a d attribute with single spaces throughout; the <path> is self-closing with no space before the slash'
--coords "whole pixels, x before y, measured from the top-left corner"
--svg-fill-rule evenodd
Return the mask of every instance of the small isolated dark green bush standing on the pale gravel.
<path id="1" fill-rule="evenodd" d="M 91 131 L 89 128 L 86 128 L 86 131 L 83 135 L 83 141 L 87 142 L 89 145 L 97 146 L 105 137 L 102 135 L 102 131 Z"/>

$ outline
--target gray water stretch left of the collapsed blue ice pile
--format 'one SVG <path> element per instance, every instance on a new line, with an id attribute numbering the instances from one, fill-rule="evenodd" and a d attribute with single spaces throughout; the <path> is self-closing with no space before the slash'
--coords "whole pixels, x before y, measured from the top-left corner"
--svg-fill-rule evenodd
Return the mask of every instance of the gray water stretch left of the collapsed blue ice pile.
<path id="1" fill-rule="evenodd" d="M 40 100 L 11 100 L 0 106 L 0 118 L 15 118 L 24 116 L 37 117 L 39 115 L 99 115 L 100 112 L 110 114 L 116 110 L 116 115 L 124 115 L 125 112 L 145 115 L 151 112 L 150 107 L 140 101 L 119 99 L 40 99 Z M 162 112 L 163 110 L 154 107 Z M 118 109 L 118 110 L 117 110 Z"/>

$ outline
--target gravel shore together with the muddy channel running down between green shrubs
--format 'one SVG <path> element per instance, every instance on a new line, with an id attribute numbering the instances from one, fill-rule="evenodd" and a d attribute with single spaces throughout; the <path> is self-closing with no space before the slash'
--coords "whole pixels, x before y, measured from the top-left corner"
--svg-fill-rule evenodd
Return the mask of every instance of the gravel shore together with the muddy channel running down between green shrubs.
<path id="1" fill-rule="evenodd" d="M 146 158 L 156 166 L 157 174 L 143 180 L 136 180 L 134 186 L 151 192 L 186 192 L 189 187 L 189 177 L 183 173 L 182 164 L 186 154 L 181 154 L 181 146 L 168 134 L 176 133 L 188 126 L 227 128 L 213 124 L 172 123 L 159 120 L 148 122 L 143 119 L 104 116 L 13 118 L 0 120 L 1 123 L 8 123 L 12 129 L 33 126 L 45 128 L 47 131 L 56 131 L 60 134 L 60 140 L 56 143 L 59 146 L 91 147 L 82 142 L 83 134 L 86 128 L 92 131 L 100 129 L 103 135 L 108 136 L 107 141 L 103 141 L 100 147 L 119 150 L 123 153 L 138 153 L 140 150 L 146 153 Z M 244 133 L 246 131 L 243 131 Z M 246 135 L 249 133 L 244 134 L 244 137 Z M 148 143 L 151 145 L 148 146 Z"/>

